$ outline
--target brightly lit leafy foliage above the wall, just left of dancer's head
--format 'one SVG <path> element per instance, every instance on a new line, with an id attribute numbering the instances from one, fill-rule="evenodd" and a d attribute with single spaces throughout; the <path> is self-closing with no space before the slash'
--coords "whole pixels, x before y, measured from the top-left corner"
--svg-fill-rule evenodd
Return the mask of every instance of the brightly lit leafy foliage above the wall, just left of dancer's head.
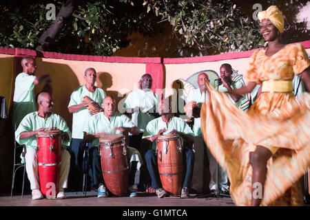
<path id="1" fill-rule="evenodd" d="M 263 44 L 257 24 L 231 0 L 145 0 L 143 5 L 147 12 L 153 10 L 163 21 L 169 21 L 178 36 L 200 50 L 244 51 Z"/>

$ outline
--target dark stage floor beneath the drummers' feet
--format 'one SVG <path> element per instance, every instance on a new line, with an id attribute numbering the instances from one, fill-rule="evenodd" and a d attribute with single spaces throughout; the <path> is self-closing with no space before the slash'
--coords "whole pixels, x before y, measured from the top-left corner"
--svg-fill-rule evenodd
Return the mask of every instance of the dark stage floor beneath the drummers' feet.
<path id="1" fill-rule="evenodd" d="M 158 198 L 155 194 L 138 192 L 138 197 L 105 197 L 97 198 L 94 191 L 66 192 L 65 199 L 32 200 L 29 193 L 23 195 L 0 195 L 0 206 L 235 206 L 231 198 L 209 197 L 180 199 L 178 197 Z"/>

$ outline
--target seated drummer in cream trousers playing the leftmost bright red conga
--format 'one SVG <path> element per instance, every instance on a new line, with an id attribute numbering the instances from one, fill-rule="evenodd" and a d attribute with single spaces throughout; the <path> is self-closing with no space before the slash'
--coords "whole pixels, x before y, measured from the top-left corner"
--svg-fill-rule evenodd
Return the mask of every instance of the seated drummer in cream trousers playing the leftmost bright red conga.
<path id="1" fill-rule="evenodd" d="M 32 189 L 32 199 L 42 199 L 43 195 L 39 185 L 38 153 L 37 153 L 37 133 L 45 130 L 61 131 L 61 145 L 70 146 L 71 132 L 60 115 L 52 113 L 54 100 L 47 92 L 38 95 L 39 110 L 25 115 L 17 131 L 15 140 L 19 144 L 25 144 L 25 168 L 30 188 Z M 70 170 L 70 153 L 63 150 L 61 153 L 61 170 L 59 178 L 59 192 L 57 199 L 65 198 L 64 188 L 67 188 L 68 174 Z"/>

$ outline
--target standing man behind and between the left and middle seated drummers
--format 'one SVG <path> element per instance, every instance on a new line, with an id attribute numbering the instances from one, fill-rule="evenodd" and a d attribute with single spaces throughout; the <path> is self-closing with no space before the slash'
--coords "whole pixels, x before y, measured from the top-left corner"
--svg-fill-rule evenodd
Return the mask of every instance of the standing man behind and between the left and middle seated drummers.
<path id="1" fill-rule="evenodd" d="M 95 87 L 94 83 L 96 82 L 96 70 L 94 68 L 87 68 L 84 72 L 85 85 L 75 89 L 71 96 L 70 102 L 68 104 L 68 110 L 70 113 L 73 113 L 72 120 L 72 142 L 71 142 L 71 171 L 70 171 L 70 184 L 71 188 L 76 190 L 81 188 L 81 183 L 83 183 L 83 153 L 88 144 L 90 151 L 93 150 L 92 143 L 83 142 L 83 126 L 87 124 L 88 120 L 92 116 L 90 111 L 87 109 L 87 106 L 91 101 L 83 100 L 85 96 L 88 96 L 94 102 L 97 102 L 99 106 L 103 103 L 103 99 L 106 94 L 103 89 Z M 91 153 L 90 153 L 91 155 Z M 92 167 L 97 166 L 99 159 L 91 159 L 94 164 L 91 164 Z M 98 179 L 96 176 L 91 178 L 91 187 L 98 188 Z"/>

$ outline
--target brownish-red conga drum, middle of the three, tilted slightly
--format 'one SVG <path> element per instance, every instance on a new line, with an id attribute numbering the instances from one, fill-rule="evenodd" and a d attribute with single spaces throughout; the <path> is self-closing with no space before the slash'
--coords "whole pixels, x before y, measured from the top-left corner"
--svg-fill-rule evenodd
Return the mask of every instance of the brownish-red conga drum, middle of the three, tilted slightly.
<path id="1" fill-rule="evenodd" d="M 107 189 L 121 196 L 127 191 L 129 166 L 124 135 L 105 135 L 99 138 L 101 169 Z"/>

